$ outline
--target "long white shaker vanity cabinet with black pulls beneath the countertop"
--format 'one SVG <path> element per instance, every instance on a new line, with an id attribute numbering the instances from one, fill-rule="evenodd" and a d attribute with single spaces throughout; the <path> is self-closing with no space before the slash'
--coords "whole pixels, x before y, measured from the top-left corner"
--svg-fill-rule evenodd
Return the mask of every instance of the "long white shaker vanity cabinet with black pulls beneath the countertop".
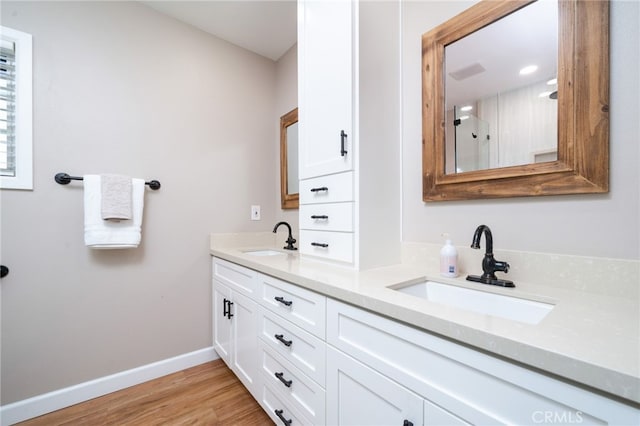
<path id="1" fill-rule="evenodd" d="M 213 276 L 214 347 L 276 424 L 639 424 L 630 405 L 260 272 L 214 258 Z"/>

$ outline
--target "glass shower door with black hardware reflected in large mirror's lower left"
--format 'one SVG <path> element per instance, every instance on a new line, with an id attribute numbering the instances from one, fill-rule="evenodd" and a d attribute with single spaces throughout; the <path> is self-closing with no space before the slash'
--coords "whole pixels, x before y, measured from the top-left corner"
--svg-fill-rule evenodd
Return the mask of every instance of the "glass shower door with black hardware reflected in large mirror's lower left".
<path id="1" fill-rule="evenodd" d="M 474 115 L 471 105 L 454 106 L 456 173 L 489 168 L 489 123 Z"/>

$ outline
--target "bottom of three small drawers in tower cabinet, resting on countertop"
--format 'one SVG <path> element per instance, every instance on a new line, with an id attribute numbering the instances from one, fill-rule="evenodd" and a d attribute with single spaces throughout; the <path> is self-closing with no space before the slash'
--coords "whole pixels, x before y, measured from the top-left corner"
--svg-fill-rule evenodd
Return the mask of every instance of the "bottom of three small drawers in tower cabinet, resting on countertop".
<path id="1" fill-rule="evenodd" d="M 299 250 L 302 254 L 351 263 L 353 233 L 301 230 Z"/>

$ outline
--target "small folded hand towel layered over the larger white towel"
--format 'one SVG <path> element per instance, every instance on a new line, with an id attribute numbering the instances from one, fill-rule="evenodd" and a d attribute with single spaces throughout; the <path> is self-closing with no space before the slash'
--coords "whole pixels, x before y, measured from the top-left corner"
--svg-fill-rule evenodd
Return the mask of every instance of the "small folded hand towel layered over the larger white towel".
<path id="1" fill-rule="evenodd" d="M 101 213 L 104 220 L 128 220 L 133 217 L 131 178 L 100 175 Z"/>

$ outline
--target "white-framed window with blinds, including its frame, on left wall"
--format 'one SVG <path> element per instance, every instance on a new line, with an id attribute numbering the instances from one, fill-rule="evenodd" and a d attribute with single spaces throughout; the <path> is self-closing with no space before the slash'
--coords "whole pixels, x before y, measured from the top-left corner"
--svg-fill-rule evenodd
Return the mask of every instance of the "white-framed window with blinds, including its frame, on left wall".
<path id="1" fill-rule="evenodd" d="M 0 188 L 33 189 L 32 40 L 0 26 Z"/>

